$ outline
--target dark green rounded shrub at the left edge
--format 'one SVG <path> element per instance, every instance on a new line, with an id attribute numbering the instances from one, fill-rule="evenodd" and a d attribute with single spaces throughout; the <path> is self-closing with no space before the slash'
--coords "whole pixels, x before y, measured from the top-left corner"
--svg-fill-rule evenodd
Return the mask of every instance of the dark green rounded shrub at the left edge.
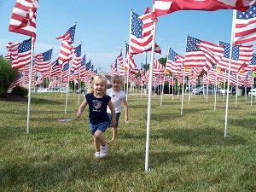
<path id="1" fill-rule="evenodd" d="M 6 96 L 9 85 L 18 77 L 18 71 L 11 67 L 11 63 L 0 59 L 0 96 Z"/>

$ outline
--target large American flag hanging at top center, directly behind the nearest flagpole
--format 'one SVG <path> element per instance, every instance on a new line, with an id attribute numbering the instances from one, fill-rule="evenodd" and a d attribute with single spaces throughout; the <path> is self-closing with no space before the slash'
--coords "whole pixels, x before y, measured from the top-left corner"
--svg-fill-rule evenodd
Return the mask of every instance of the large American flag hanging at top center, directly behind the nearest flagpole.
<path id="1" fill-rule="evenodd" d="M 131 12 L 131 54 L 136 55 L 152 49 L 154 20 L 149 9 L 144 15 Z M 155 44 L 154 52 L 161 54 L 160 46 Z"/>

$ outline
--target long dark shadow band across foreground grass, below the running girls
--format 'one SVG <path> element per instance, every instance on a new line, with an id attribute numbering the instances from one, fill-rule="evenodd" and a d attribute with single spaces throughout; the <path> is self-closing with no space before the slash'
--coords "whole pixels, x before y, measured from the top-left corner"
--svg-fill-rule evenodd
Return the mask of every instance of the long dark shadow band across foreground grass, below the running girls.
<path id="1" fill-rule="evenodd" d="M 0 167 L 0 184 L 2 189 L 18 191 L 20 186 L 30 183 L 32 191 L 44 189 L 45 186 L 58 185 L 59 183 L 75 183 L 77 180 L 95 182 L 103 177 L 111 177 L 117 173 L 144 172 L 145 154 L 108 154 L 104 159 L 95 160 L 90 157 L 76 155 L 71 157 L 51 157 L 44 154 L 38 160 L 27 159 L 26 162 L 5 164 Z M 157 167 L 163 163 L 179 162 L 189 152 L 150 153 L 150 166 Z M 171 159 L 170 159 L 171 158 Z"/>

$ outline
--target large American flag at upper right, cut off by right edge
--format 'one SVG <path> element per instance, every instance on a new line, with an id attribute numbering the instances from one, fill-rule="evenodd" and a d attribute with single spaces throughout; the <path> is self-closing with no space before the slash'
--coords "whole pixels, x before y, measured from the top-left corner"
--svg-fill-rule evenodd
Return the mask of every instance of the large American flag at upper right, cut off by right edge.
<path id="1" fill-rule="evenodd" d="M 253 4 L 246 12 L 236 12 L 234 33 L 235 45 L 256 40 L 256 4 Z"/>

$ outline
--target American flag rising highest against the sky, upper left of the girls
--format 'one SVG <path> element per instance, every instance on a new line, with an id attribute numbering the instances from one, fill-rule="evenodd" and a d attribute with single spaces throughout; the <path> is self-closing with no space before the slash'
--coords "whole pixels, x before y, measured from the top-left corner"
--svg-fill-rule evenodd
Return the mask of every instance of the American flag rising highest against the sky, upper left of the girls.
<path id="1" fill-rule="evenodd" d="M 64 62 L 72 60 L 72 49 L 73 49 L 73 40 L 75 35 L 76 25 L 70 27 L 67 32 L 57 40 L 61 41 L 61 49 L 59 54 L 59 63 L 62 65 Z"/>

